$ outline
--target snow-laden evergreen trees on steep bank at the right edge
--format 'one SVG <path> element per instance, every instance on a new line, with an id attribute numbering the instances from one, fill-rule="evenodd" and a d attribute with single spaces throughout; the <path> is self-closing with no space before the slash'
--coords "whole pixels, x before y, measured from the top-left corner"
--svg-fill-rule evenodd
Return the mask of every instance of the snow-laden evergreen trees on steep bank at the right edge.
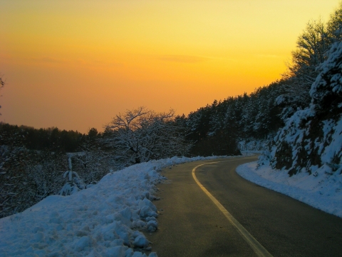
<path id="1" fill-rule="evenodd" d="M 270 158 L 274 168 L 286 168 L 293 175 L 342 171 L 342 42 L 327 52 L 311 86 L 309 108 L 299 110 L 274 138 Z"/>

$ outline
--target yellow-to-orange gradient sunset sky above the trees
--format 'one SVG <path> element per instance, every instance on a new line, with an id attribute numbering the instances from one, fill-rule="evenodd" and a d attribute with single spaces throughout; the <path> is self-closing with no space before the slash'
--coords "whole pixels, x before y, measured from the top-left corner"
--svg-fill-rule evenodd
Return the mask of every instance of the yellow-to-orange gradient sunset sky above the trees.
<path id="1" fill-rule="evenodd" d="M 189 114 L 281 77 L 338 0 L 0 0 L 0 121 L 86 133 L 126 109 Z"/>

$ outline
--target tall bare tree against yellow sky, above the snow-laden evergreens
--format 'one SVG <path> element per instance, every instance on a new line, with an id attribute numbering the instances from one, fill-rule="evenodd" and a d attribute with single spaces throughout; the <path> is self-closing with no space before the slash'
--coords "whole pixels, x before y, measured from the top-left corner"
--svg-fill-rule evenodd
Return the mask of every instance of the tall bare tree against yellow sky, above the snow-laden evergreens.
<path id="1" fill-rule="evenodd" d="M 297 39 L 297 47 L 292 51 L 291 63 L 283 74 L 281 94 L 276 103 L 284 106 L 281 116 L 286 120 L 298 109 L 309 106 L 309 91 L 319 71 L 317 67 L 326 59 L 326 51 L 330 48 L 326 24 L 321 20 L 310 21 L 306 29 Z"/>

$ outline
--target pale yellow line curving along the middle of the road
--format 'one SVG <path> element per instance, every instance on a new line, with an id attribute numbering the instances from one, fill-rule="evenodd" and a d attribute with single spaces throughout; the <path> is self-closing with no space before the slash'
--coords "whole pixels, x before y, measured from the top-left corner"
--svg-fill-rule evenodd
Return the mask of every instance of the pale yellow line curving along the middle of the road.
<path id="1" fill-rule="evenodd" d="M 211 162 L 211 163 L 204 163 L 204 164 L 200 164 L 199 166 L 203 166 L 203 165 L 207 165 L 207 164 L 212 164 L 212 163 L 219 163 L 221 161 L 215 161 L 215 162 Z M 247 230 L 246 228 L 244 228 L 239 221 L 237 221 L 232 214 L 229 213 L 229 211 L 226 210 L 226 208 L 224 208 L 222 206 L 221 203 L 219 203 L 219 201 L 217 201 L 216 198 L 214 198 L 214 196 L 212 196 L 211 193 L 209 193 L 209 191 L 207 191 L 207 188 L 204 188 L 204 186 L 202 185 L 202 183 L 200 183 L 198 181 L 198 179 L 196 178 L 195 175 L 195 171 L 196 168 L 198 168 L 199 166 L 196 166 L 195 168 L 192 169 L 192 177 L 195 179 L 197 185 L 204 191 L 204 193 L 207 194 L 207 196 L 209 196 L 210 199 L 212 199 L 212 201 L 216 204 L 216 206 L 219 208 L 220 211 L 222 211 L 222 213 L 224 214 L 224 216 L 226 216 L 226 218 L 228 219 L 228 221 L 230 223 L 232 223 L 233 226 L 235 226 L 235 228 L 237 228 L 237 230 L 239 231 L 239 233 L 242 235 L 242 238 L 244 238 L 244 240 L 249 244 L 249 246 L 252 247 L 253 251 L 255 253 L 257 253 L 257 256 L 271 256 L 271 253 L 269 253 L 269 251 L 266 250 L 266 248 L 264 248 L 264 246 L 261 246 L 261 244 L 257 241 L 257 239 L 255 239 Z"/>

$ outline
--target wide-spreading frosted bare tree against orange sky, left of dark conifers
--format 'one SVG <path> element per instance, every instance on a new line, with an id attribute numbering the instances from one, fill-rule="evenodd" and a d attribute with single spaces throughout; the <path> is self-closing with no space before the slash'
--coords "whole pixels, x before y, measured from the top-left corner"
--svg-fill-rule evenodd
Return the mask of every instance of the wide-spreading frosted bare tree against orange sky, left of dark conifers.
<path id="1" fill-rule="evenodd" d="M 115 158 L 124 165 L 184 155 L 189 144 L 174 116 L 173 110 L 160 114 L 145 107 L 128 110 L 105 126 L 105 143 L 114 148 Z"/>

